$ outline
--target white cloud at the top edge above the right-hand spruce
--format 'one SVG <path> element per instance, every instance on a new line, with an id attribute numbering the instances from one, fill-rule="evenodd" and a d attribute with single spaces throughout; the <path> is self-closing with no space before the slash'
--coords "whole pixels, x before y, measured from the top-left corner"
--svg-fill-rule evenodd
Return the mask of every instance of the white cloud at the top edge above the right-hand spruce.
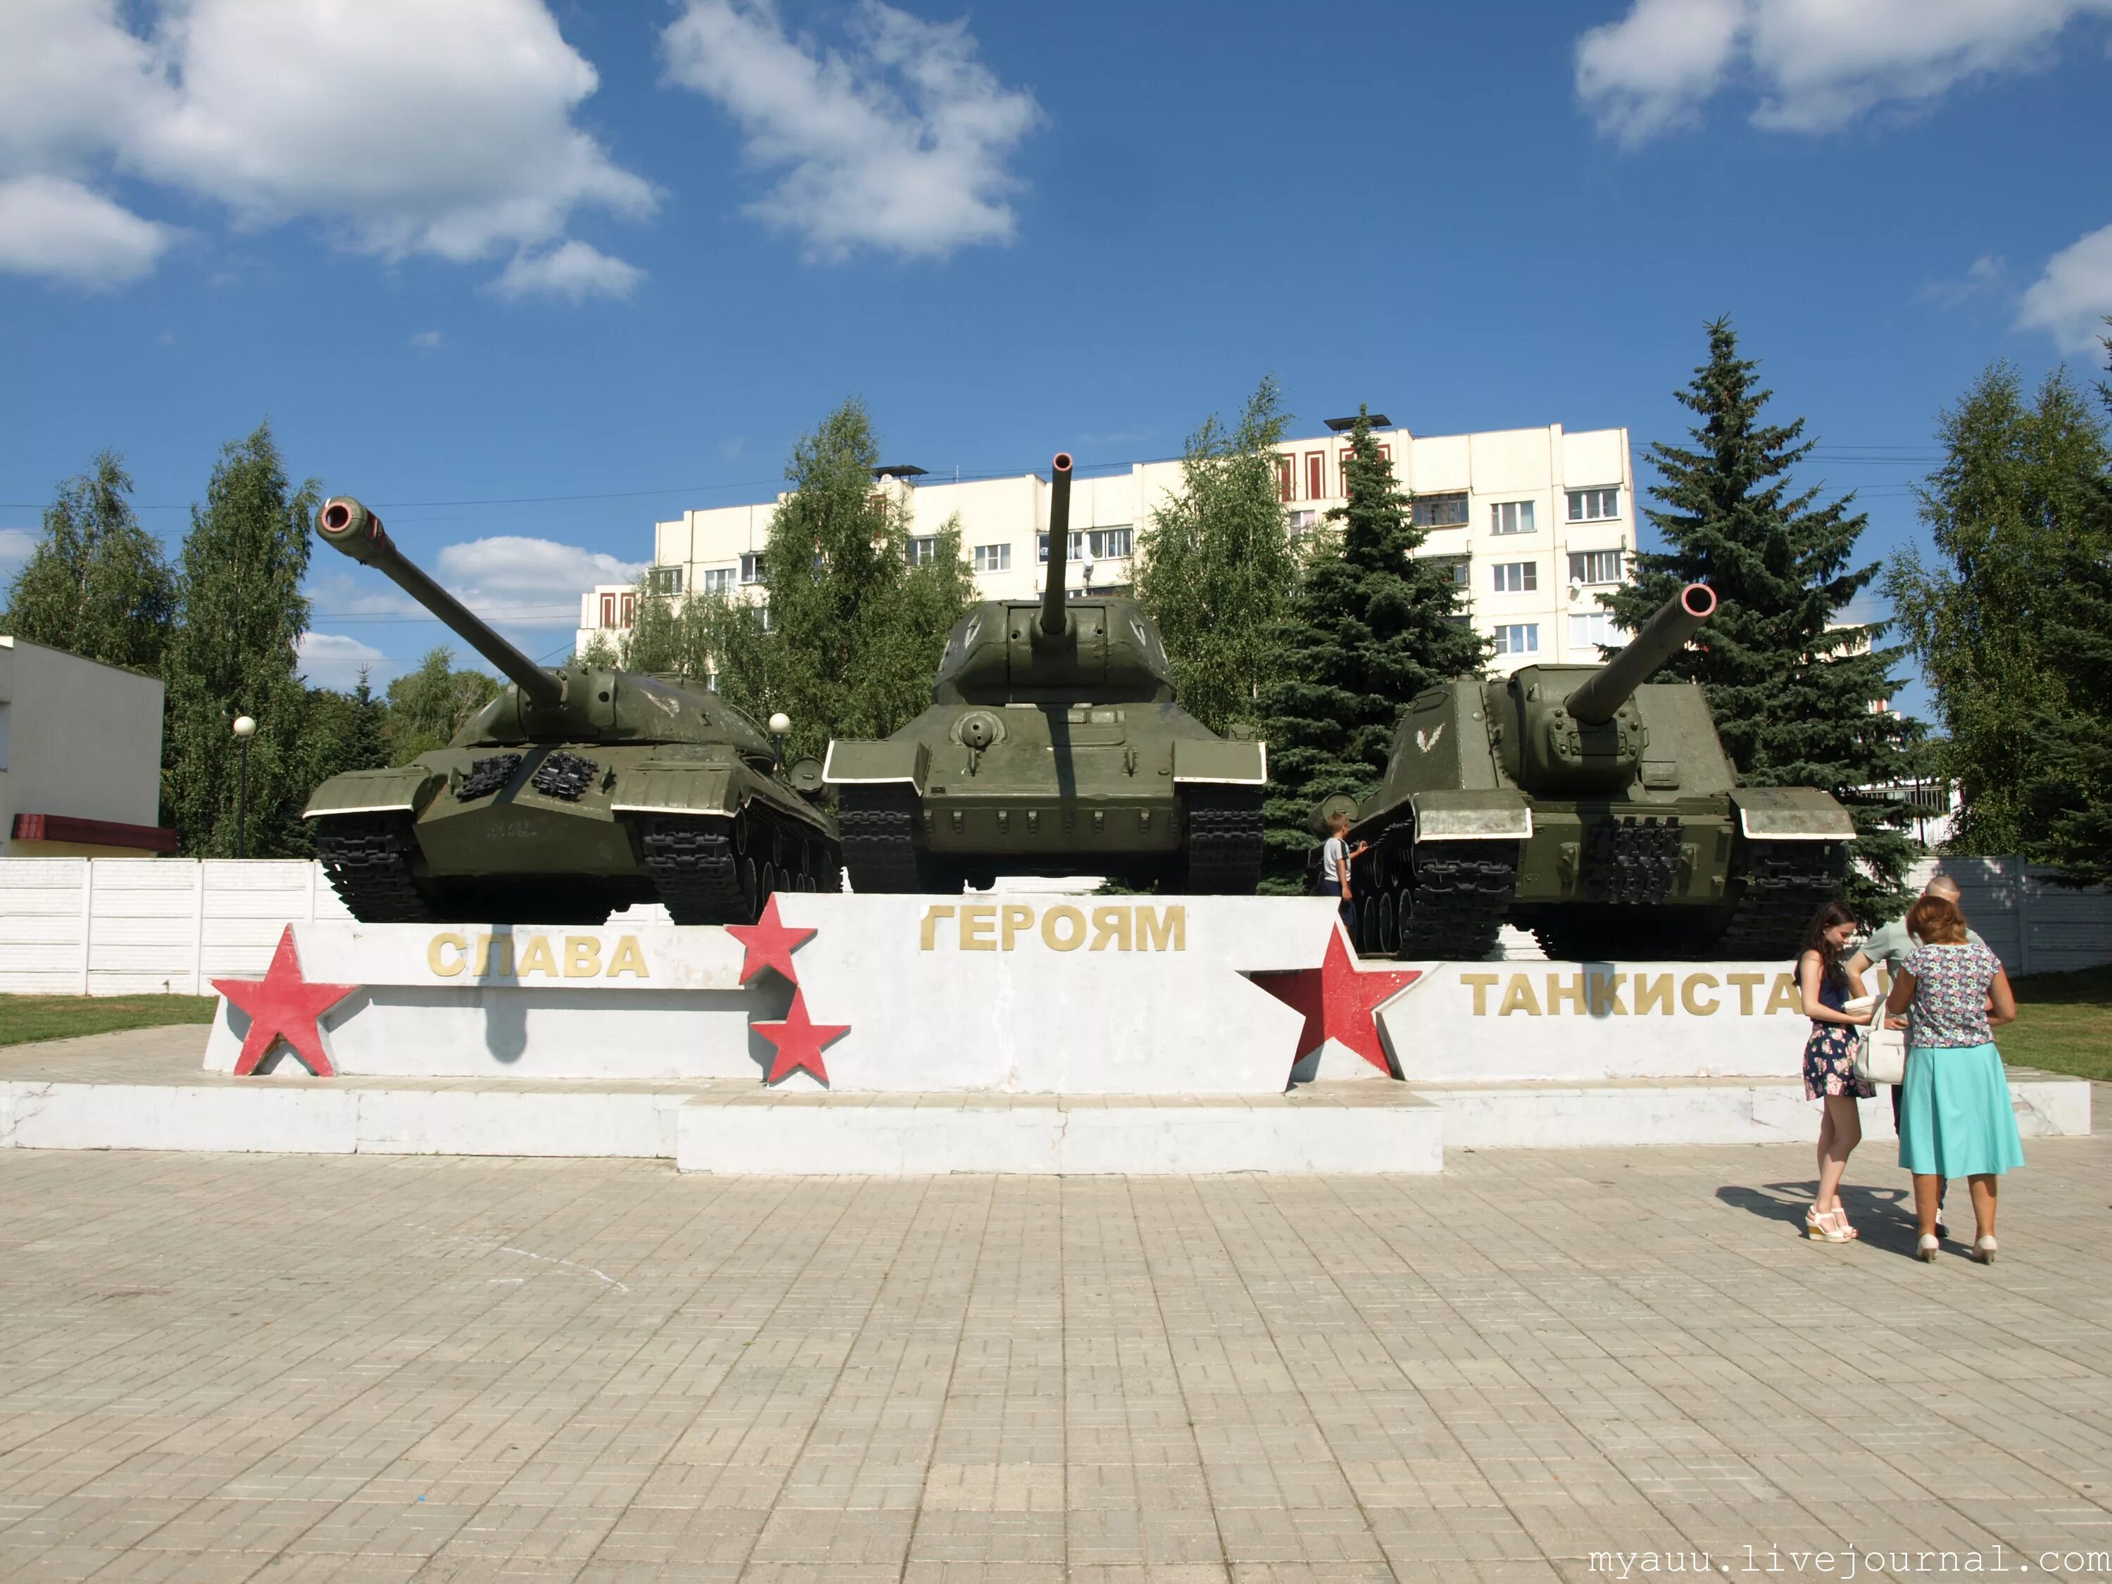
<path id="1" fill-rule="evenodd" d="M 1578 97 L 1599 131 L 1639 144 L 1687 125 L 1732 76 L 1753 125 L 1831 131 L 1878 106 L 1924 106 L 1958 82 L 2030 72 L 2112 0 L 1633 0 L 1578 40 Z"/>

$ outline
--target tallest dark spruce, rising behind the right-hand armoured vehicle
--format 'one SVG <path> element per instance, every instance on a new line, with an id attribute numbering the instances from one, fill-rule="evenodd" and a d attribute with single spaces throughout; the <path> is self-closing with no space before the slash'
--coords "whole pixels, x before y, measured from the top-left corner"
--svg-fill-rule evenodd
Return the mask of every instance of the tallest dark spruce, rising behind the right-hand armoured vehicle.
<path id="1" fill-rule="evenodd" d="M 1852 496 L 1818 505 L 1789 471 L 1812 450 L 1804 420 L 1768 425 L 1774 397 L 1757 389 L 1759 363 L 1738 357 L 1728 319 L 1709 325 L 1709 361 L 1679 391 L 1700 425 L 1692 448 L 1649 446 L 1662 509 L 1649 511 L 1664 551 L 1637 555 L 1637 577 L 1603 604 L 1635 631 L 1685 583 L 1715 589 L 1717 612 L 1698 644 L 1660 678 L 1700 682 L 1717 735 L 1747 786 L 1816 786 L 1848 805 L 1856 841 L 1844 900 L 1865 921 L 1892 917 L 1913 843 L 1907 811 L 1859 792 L 1905 773 L 1911 724 L 1890 710 L 1901 650 L 1878 648 L 1884 623 L 1842 623 L 1840 612 L 1878 577 L 1850 566 L 1869 517 Z"/>

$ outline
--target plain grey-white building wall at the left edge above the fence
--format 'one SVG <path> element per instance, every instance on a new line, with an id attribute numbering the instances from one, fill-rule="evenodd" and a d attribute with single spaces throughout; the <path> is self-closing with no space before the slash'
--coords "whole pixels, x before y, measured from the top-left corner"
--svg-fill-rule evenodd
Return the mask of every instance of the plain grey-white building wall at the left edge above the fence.
<path id="1" fill-rule="evenodd" d="M 0 853 L 21 851 L 17 813 L 156 824 L 161 693 L 158 678 L 0 636 Z"/>

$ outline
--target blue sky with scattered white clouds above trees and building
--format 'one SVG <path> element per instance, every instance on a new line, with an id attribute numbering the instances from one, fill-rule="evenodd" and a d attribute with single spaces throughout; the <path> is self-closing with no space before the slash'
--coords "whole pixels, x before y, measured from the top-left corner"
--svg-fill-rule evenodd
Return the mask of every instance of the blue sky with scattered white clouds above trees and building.
<path id="1" fill-rule="evenodd" d="M 1890 553 L 1985 363 L 2099 372 L 2108 49 L 2112 0 L 13 0 L 0 558 L 103 446 L 173 545 L 268 416 L 549 655 L 853 391 L 936 473 L 1168 456 L 1263 372 L 1641 460 L 1717 313 Z M 317 680 L 444 636 L 353 572 Z"/>

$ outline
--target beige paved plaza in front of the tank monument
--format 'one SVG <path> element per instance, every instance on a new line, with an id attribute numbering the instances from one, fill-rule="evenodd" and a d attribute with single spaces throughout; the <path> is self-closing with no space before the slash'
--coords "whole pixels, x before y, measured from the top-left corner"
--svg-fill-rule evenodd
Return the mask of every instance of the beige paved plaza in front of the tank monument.
<path id="1" fill-rule="evenodd" d="M 0 1580 L 2112 1573 L 2112 1138 L 1810 1181 L 8 1149 Z"/>

